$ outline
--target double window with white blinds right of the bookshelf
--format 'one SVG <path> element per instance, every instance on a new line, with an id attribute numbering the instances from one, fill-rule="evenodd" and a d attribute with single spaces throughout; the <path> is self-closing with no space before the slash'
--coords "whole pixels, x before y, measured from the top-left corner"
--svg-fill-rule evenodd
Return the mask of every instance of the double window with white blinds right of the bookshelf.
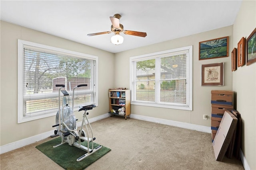
<path id="1" fill-rule="evenodd" d="M 130 58 L 131 104 L 192 110 L 192 46 Z"/>

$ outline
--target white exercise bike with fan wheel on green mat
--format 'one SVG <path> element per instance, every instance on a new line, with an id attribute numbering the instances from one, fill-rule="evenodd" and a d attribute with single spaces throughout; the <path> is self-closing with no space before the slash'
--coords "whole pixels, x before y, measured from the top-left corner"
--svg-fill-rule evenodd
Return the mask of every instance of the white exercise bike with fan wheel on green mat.
<path id="1" fill-rule="evenodd" d="M 60 135 L 61 137 L 61 143 L 54 145 L 53 147 L 58 147 L 64 143 L 68 143 L 70 146 L 78 147 L 79 149 L 85 150 L 86 154 L 83 154 L 79 158 L 77 158 L 77 162 L 80 162 L 87 156 L 90 156 L 94 152 L 98 151 L 100 148 L 102 148 L 101 145 L 93 148 L 93 141 L 96 139 L 93 137 L 92 133 L 92 127 L 90 125 L 90 122 L 88 121 L 87 115 L 89 114 L 87 110 L 91 110 L 93 107 L 96 107 L 95 105 L 88 105 L 88 106 L 82 106 L 79 108 L 78 111 L 84 110 L 83 114 L 83 120 L 82 125 L 78 131 L 76 127 L 76 119 L 75 114 L 73 112 L 74 109 L 74 91 L 76 88 L 87 86 L 87 84 L 80 84 L 73 89 L 73 96 L 72 96 L 72 109 L 69 106 L 69 94 L 66 90 L 62 90 L 62 88 L 65 87 L 64 84 L 56 84 L 56 87 L 60 87 L 58 91 L 58 98 L 59 98 L 59 109 L 56 114 L 56 125 L 53 125 L 52 127 L 56 127 L 56 130 L 54 131 L 55 135 Z M 62 107 L 60 107 L 60 92 L 62 92 L 63 100 L 62 100 Z M 86 124 L 87 121 L 87 124 Z M 86 131 L 84 131 L 83 127 L 86 127 Z M 89 130 L 91 133 L 91 138 L 89 138 Z M 82 142 L 87 141 L 87 147 L 82 145 Z M 90 148 L 89 143 L 92 143 L 92 147 Z"/>

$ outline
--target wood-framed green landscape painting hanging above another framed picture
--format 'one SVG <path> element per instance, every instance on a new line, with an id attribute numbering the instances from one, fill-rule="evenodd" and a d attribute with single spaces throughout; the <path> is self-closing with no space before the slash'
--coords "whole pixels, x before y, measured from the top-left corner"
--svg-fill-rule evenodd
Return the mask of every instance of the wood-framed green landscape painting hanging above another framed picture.
<path id="1" fill-rule="evenodd" d="M 228 57 L 228 37 L 199 42 L 199 60 Z"/>

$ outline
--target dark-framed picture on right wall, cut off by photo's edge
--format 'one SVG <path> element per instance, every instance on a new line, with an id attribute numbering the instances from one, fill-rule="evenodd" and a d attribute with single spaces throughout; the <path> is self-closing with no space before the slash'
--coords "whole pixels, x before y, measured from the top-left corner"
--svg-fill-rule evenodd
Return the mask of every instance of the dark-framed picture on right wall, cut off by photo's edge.
<path id="1" fill-rule="evenodd" d="M 246 39 L 246 65 L 256 62 L 256 28 Z"/>

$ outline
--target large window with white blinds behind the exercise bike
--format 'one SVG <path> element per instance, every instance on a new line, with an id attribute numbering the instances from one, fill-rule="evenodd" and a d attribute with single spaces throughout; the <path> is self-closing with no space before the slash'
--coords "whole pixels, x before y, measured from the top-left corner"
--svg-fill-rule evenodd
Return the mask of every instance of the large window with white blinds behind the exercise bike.
<path id="1" fill-rule="evenodd" d="M 18 40 L 18 123 L 56 115 L 58 89 L 64 84 L 80 105 L 98 105 L 98 57 Z M 72 90 L 79 84 L 87 84 Z M 62 96 L 60 98 L 62 104 Z M 72 102 L 70 102 L 72 106 Z"/>

